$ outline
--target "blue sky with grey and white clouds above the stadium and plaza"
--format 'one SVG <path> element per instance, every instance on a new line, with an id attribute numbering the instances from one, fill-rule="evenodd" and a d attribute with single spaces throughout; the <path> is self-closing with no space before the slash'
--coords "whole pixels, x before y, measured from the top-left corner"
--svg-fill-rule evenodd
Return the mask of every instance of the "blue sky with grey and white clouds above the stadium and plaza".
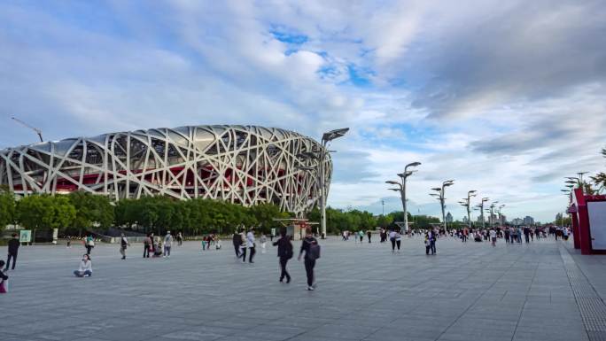
<path id="1" fill-rule="evenodd" d="M 330 145 L 329 205 L 411 213 L 468 190 L 554 221 L 563 177 L 606 170 L 601 1 L 12 1 L 0 4 L 0 148 L 205 124 Z M 472 205 L 478 203 L 472 199 Z M 385 202 L 385 206 L 382 203 Z M 489 202 L 489 203 L 490 203 Z M 474 213 L 477 215 L 478 212 Z"/>

